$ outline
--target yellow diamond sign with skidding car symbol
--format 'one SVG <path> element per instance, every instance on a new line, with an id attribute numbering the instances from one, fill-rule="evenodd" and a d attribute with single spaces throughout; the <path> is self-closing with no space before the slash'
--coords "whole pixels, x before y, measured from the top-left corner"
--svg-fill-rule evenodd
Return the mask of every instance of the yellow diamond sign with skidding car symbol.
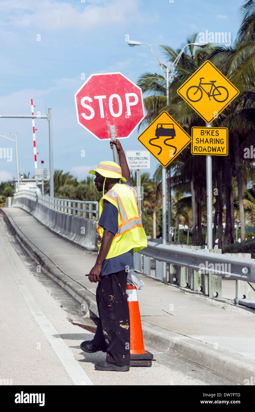
<path id="1" fill-rule="evenodd" d="M 163 111 L 138 136 L 138 140 L 166 167 L 190 143 L 191 137 L 168 112 Z"/>

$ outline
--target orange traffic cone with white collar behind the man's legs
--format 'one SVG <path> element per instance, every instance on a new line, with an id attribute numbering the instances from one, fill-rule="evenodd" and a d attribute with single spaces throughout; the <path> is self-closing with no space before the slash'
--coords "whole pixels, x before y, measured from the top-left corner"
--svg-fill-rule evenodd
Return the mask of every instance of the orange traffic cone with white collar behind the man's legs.
<path id="1" fill-rule="evenodd" d="M 135 286 L 127 284 L 126 293 L 129 295 L 130 366 L 152 366 L 153 355 L 144 349 L 142 325 Z"/>

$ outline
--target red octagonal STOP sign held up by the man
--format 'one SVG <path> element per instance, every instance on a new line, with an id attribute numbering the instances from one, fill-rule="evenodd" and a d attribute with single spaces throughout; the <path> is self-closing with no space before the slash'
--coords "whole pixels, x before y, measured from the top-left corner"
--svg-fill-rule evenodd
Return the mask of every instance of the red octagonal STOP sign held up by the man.
<path id="1" fill-rule="evenodd" d="M 96 138 L 129 137 L 144 118 L 142 90 L 122 73 L 91 75 L 76 92 L 78 123 Z"/>

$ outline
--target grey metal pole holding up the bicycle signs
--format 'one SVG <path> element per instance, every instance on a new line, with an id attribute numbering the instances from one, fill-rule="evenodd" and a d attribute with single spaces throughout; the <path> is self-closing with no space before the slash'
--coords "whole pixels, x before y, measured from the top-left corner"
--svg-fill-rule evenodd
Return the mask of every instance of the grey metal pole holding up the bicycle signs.
<path id="1" fill-rule="evenodd" d="M 211 123 L 206 123 L 211 127 Z M 207 193 L 207 248 L 212 249 L 212 169 L 211 156 L 206 157 L 206 193 Z"/>

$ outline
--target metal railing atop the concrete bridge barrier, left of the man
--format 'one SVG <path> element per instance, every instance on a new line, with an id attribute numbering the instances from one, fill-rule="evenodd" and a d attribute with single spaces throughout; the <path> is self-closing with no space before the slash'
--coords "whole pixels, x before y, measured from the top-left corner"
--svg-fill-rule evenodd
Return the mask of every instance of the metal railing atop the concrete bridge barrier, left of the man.
<path id="1" fill-rule="evenodd" d="M 93 219 L 93 215 L 95 215 L 96 220 L 98 219 L 99 202 L 97 201 L 60 199 L 44 194 L 37 194 L 36 192 L 32 192 L 32 190 L 21 190 L 14 193 L 14 199 L 18 199 L 19 197 L 26 197 L 27 199 L 37 201 L 37 203 L 58 212 L 83 216 L 84 218 L 87 218 L 88 215 L 89 219 Z"/>

